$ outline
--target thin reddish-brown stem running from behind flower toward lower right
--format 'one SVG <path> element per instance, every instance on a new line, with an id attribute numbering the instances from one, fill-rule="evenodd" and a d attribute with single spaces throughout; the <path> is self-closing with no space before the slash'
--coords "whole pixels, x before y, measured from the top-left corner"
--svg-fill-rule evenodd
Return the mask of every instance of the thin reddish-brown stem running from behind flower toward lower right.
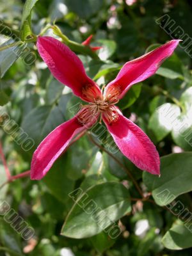
<path id="1" fill-rule="evenodd" d="M 124 171 L 127 173 L 127 175 L 129 176 L 129 178 L 132 180 L 132 183 L 134 184 L 134 186 L 136 186 L 136 189 L 138 190 L 138 192 L 140 193 L 140 195 L 142 196 L 142 198 L 144 198 L 143 196 L 143 192 L 138 184 L 138 182 L 134 179 L 134 177 L 132 176 L 131 172 L 124 166 L 124 164 L 122 164 L 118 158 L 116 158 L 115 156 L 113 156 L 113 154 L 111 154 L 108 150 L 106 150 L 106 148 L 102 147 L 101 145 L 99 145 L 95 140 L 93 140 L 92 136 L 90 134 L 88 134 L 88 138 L 90 138 L 90 141 L 92 141 L 93 144 L 95 144 L 97 147 L 99 147 L 102 151 L 106 152 L 110 157 L 112 157 L 116 163 L 118 163 L 122 169 L 124 169 Z M 140 199 L 141 200 L 141 199 Z"/>

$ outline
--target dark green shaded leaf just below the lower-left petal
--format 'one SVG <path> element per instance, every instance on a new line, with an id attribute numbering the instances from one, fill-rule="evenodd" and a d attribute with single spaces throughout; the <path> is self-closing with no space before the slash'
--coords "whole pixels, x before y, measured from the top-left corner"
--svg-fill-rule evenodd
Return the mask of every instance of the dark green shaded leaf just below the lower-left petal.
<path id="1" fill-rule="evenodd" d="M 65 160 L 65 156 L 60 157 L 60 159 L 54 163 L 51 170 L 49 170 L 43 180 L 51 194 L 61 202 L 66 202 L 69 199 L 68 193 L 74 189 L 75 184 L 73 180 L 70 180 L 67 177 Z"/>

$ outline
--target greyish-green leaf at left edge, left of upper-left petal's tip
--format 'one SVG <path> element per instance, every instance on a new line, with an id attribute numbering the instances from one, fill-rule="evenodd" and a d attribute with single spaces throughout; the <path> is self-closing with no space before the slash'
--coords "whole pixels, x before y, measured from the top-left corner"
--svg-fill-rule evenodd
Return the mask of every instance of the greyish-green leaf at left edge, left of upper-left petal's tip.
<path id="1" fill-rule="evenodd" d="M 4 49 L 6 47 L 6 49 Z M 13 63 L 19 58 L 26 44 L 21 42 L 15 42 L 13 39 L 6 41 L 0 47 L 0 76 L 4 76 L 6 71 L 13 65 Z M 4 49 L 4 50 L 3 50 Z"/>

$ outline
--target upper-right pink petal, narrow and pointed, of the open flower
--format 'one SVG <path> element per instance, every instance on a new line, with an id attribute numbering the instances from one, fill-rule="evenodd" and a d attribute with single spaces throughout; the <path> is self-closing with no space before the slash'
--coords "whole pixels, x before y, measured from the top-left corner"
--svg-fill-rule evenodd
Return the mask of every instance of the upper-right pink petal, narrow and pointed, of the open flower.
<path id="1" fill-rule="evenodd" d="M 106 86 L 104 95 L 107 96 L 113 91 L 119 92 L 118 99 L 121 99 L 133 84 L 156 73 L 161 63 L 172 55 L 179 42 L 180 40 L 172 40 L 140 58 L 125 63 L 115 80 Z"/>

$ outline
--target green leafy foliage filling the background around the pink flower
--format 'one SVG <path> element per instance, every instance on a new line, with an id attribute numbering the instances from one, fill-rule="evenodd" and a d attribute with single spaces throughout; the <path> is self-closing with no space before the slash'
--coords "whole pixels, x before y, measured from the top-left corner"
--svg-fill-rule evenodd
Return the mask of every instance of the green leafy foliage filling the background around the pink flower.
<path id="1" fill-rule="evenodd" d="M 65 256 L 66 248 L 76 256 L 191 255 L 192 73 L 184 47 L 118 102 L 156 145 L 161 177 L 110 153 L 98 130 L 71 145 L 41 181 L 25 173 L 40 141 L 81 102 L 50 74 L 36 51 L 38 35 L 60 38 L 100 86 L 126 61 L 172 39 L 157 22 L 165 12 L 192 36 L 191 1 L 128 2 L 1 0 L 0 255 Z M 90 35 L 97 52 L 81 44 Z M 15 127 L 34 141 L 29 150 Z M 4 184 L 6 164 L 12 178 Z M 4 220 L 4 200 L 35 230 L 33 239 L 15 232 L 13 216 Z"/>

